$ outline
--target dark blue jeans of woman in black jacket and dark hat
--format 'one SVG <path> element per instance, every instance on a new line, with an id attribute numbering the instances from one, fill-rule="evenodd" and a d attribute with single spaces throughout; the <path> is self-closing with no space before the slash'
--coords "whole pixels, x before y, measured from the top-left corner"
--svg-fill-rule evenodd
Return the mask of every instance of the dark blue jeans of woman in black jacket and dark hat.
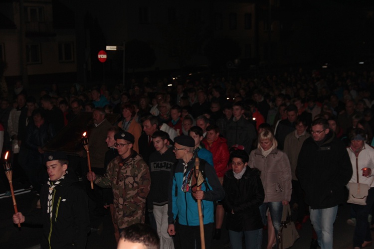
<path id="1" fill-rule="evenodd" d="M 262 229 L 244 232 L 235 232 L 228 230 L 230 236 L 230 248 L 241 249 L 243 234 L 245 237 L 245 249 L 261 249 L 261 242 L 259 236 L 262 234 Z"/>

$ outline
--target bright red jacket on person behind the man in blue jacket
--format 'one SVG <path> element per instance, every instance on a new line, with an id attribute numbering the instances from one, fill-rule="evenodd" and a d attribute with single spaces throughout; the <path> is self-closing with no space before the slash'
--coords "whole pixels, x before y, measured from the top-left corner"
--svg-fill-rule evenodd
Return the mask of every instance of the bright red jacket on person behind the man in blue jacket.
<path id="1" fill-rule="evenodd" d="M 230 158 L 230 152 L 227 147 L 227 140 L 223 137 L 218 137 L 211 144 L 206 138 L 202 139 L 205 148 L 213 154 L 213 166 L 218 177 L 223 177 L 227 171 L 227 163 Z"/>

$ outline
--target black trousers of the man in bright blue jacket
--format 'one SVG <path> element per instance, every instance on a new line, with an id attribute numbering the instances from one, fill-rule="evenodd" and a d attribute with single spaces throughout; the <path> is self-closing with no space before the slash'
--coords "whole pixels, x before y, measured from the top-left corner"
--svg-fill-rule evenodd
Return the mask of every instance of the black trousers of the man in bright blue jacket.
<path id="1" fill-rule="evenodd" d="M 205 248 L 210 249 L 213 237 L 214 223 L 204 225 Z M 179 233 L 181 249 L 201 248 L 200 226 L 185 226 L 178 224 L 176 232 Z M 177 248 L 177 247 L 176 247 Z"/>

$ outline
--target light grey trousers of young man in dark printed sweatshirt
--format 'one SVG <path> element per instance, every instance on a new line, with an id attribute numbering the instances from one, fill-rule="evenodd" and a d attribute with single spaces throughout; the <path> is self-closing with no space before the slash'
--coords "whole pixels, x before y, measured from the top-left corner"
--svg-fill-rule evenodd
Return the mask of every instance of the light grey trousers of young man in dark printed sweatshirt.
<path id="1" fill-rule="evenodd" d="M 160 238 L 160 248 L 174 249 L 173 237 L 168 234 L 168 204 L 153 205 L 153 215 L 157 224 L 157 234 Z"/>

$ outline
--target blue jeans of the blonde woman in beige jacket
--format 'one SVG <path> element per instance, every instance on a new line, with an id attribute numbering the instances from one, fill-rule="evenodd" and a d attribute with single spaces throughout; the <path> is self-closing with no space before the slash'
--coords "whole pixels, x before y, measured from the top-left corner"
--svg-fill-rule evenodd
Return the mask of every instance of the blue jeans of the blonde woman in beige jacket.
<path id="1" fill-rule="evenodd" d="M 282 202 L 264 202 L 259 207 L 260 214 L 262 217 L 262 222 L 264 225 L 267 225 L 266 223 L 266 210 L 269 208 L 271 221 L 273 223 L 273 227 L 275 230 L 275 238 L 278 236 L 278 232 L 281 226 L 281 220 L 282 220 L 282 212 L 283 212 L 283 204 Z M 259 238 L 260 243 L 262 242 L 262 233 L 260 235 L 261 238 Z"/>

